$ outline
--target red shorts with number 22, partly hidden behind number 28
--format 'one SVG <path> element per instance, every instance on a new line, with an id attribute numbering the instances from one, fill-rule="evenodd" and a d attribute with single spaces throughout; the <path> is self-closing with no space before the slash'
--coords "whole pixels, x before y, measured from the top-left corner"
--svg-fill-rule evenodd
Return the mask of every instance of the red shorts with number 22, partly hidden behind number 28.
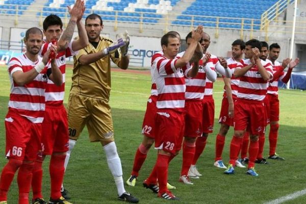
<path id="1" fill-rule="evenodd" d="M 141 133 L 149 138 L 155 138 L 155 114 L 157 96 L 151 95 L 147 102 L 147 109 L 144 114 Z"/>

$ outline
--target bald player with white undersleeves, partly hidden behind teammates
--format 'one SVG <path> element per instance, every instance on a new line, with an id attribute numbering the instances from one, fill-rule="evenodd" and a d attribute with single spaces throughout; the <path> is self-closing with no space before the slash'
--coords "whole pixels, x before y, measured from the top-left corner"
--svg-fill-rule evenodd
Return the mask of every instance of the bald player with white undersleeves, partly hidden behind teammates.
<path id="1" fill-rule="evenodd" d="M 203 54 L 206 54 L 210 45 L 210 36 L 207 33 L 202 34 Z M 211 55 L 211 58 L 207 64 L 212 69 L 218 71 L 226 78 L 231 78 L 231 70 L 227 67 L 226 60 L 224 58 L 217 58 L 215 55 Z M 214 119 L 215 119 L 215 102 L 213 98 L 213 82 L 206 80 L 204 98 L 202 100 L 203 107 L 203 121 L 202 121 L 202 136 L 198 137 L 195 142 L 195 154 L 193 157 L 192 165 L 190 166 L 188 175 L 190 177 L 201 176 L 196 168 L 196 162 L 202 154 L 209 133 L 213 132 Z M 205 118 L 205 119 L 204 119 Z"/>

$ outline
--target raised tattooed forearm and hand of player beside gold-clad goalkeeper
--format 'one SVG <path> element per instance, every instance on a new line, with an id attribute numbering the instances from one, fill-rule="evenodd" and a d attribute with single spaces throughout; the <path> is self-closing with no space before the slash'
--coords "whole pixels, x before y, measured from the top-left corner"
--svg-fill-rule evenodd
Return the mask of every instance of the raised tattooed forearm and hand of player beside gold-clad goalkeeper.
<path id="1" fill-rule="evenodd" d="M 70 20 L 68 22 L 67 28 L 65 29 L 63 35 L 58 41 L 58 50 L 64 50 L 68 47 L 68 43 L 71 41 L 75 25 L 77 24 L 80 15 L 84 13 L 85 4 L 82 0 L 75 1 L 73 8 L 68 6 L 68 11 L 70 14 Z M 81 17 L 82 18 L 82 17 Z"/>

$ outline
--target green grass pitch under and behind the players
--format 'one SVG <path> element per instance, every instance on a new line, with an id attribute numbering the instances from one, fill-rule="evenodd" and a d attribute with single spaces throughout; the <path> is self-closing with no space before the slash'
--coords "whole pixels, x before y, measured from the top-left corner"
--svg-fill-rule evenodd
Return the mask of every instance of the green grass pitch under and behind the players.
<path id="1" fill-rule="evenodd" d="M 66 74 L 66 95 L 71 85 L 70 68 Z M 197 167 L 203 174 L 199 180 L 193 180 L 193 186 L 179 182 L 182 153 L 169 166 L 169 182 L 176 186 L 172 192 L 180 201 L 177 203 L 264 203 L 281 196 L 305 189 L 306 176 L 306 109 L 305 92 L 299 90 L 281 90 L 281 120 L 277 152 L 286 161 L 269 161 L 269 165 L 256 165 L 259 177 L 245 174 L 245 169 L 236 168 L 234 175 L 224 175 L 223 170 L 213 166 L 215 155 L 215 138 L 219 130 L 219 116 L 223 83 L 214 85 L 215 127 L 209 135 L 207 147 L 200 157 Z M 6 164 L 4 118 L 7 113 L 10 82 L 6 66 L 0 66 L 0 169 Z M 146 100 L 150 93 L 150 76 L 146 74 L 112 72 L 112 91 L 110 105 L 112 107 L 115 141 L 121 158 L 123 178 L 130 176 L 136 149 L 142 141 L 141 125 L 146 108 Z M 269 131 L 269 127 L 268 130 Z M 228 162 L 229 144 L 233 130 L 226 137 L 223 160 Z M 266 137 L 264 156 L 267 157 L 269 142 Z M 156 150 L 149 151 L 138 178 L 136 187 L 126 186 L 126 190 L 140 199 L 140 203 L 172 203 L 157 198 L 156 194 L 142 187 L 142 182 L 150 173 L 156 161 Z M 43 195 L 49 197 L 49 158 L 43 165 Z M 16 176 L 15 176 L 16 177 Z M 103 148 L 99 143 L 90 143 L 85 129 L 75 145 L 68 165 L 65 187 L 72 197 L 71 202 L 77 204 L 119 203 L 113 177 L 107 167 Z M 18 200 L 16 179 L 10 188 L 8 203 Z M 30 196 L 31 197 L 31 196 Z M 175 202 L 176 203 L 176 202 Z M 306 203 L 306 196 L 301 196 L 287 203 Z"/>

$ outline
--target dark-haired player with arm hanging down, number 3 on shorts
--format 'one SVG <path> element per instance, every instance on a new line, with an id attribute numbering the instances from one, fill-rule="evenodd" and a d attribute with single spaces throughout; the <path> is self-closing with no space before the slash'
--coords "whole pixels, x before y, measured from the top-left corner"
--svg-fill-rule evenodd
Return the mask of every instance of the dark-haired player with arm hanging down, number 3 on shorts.
<path id="1" fill-rule="evenodd" d="M 245 50 L 245 42 L 243 40 L 235 40 L 232 43 L 232 58 L 228 58 L 227 66 L 232 71 L 232 78 L 223 78 L 224 81 L 224 93 L 221 104 L 219 123 L 220 130 L 216 137 L 216 151 L 215 151 L 215 166 L 224 168 L 225 165 L 222 161 L 222 151 L 225 143 L 225 136 L 227 134 L 230 126 L 234 126 L 234 103 L 237 100 L 239 78 L 235 78 L 234 71 L 239 66 L 242 67 L 240 63 Z M 246 132 L 247 134 L 247 132 Z M 245 138 L 245 137 L 244 137 Z M 248 135 L 246 136 L 248 138 Z M 248 142 L 246 142 L 248 143 Z M 248 144 L 247 144 L 248 145 Z M 236 166 L 240 168 L 245 168 L 239 160 L 236 160 Z M 226 168 L 226 167 L 225 167 Z"/>

